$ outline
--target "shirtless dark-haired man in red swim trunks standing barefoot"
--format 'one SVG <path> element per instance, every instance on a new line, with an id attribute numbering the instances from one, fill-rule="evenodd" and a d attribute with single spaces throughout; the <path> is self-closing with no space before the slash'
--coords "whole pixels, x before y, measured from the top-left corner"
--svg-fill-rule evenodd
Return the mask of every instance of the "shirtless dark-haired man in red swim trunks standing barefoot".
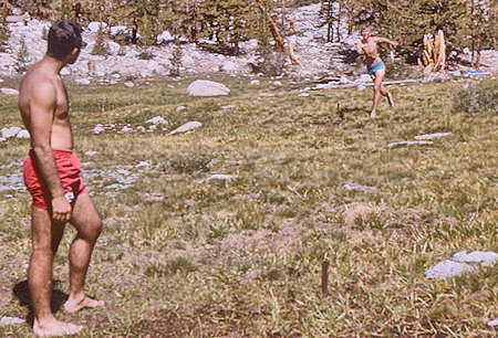
<path id="1" fill-rule="evenodd" d="M 60 71 L 76 61 L 83 44 L 81 27 L 71 20 L 55 22 L 49 31 L 43 59 L 22 78 L 19 109 L 31 135 L 24 159 L 24 183 L 32 194 L 33 252 L 28 285 L 34 311 L 33 330 L 39 336 L 74 335 L 83 326 L 58 320 L 51 311 L 52 263 L 64 225 L 77 234 L 70 249 L 69 313 L 103 305 L 84 294 L 90 257 L 102 230 L 102 221 L 81 179 L 81 163 L 73 155 L 68 93 Z"/>

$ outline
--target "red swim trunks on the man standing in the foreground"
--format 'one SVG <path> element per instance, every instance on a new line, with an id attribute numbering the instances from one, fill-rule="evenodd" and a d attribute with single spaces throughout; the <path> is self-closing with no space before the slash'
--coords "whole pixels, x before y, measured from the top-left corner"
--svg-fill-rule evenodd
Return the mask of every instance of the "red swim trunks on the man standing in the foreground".
<path id="1" fill-rule="evenodd" d="M 64 197 L 72 203 L 76 197 L 85 191 L 85 184 L 81 179 L 81 162 L 71 149 L 52 149 L 59 178 L 61 179 Z M 24 158 L 24 184 L 33 197 L 33 205 L 40 209 L 49 209 L 52 198 L 49 188 L 43 182 L 42 176 L 34 159 L 33 150 Z"/>

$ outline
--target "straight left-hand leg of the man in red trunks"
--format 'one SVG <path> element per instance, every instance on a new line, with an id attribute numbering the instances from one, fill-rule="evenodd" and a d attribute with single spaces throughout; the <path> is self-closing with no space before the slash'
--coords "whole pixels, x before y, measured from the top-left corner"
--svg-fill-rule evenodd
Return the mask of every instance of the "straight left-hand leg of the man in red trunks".
<path id="1" fill-rule="evenodd" d="M 64 224 L 52 221 L 49 211 L 32 208 L 33 252 L 28 270 L 28 285 L 34 313 L 33 331 L 38 336 L 74 335 L 83 329 L 80 325 L 55 319 L 50 306 L 53 256 L 63 228 Z"/>

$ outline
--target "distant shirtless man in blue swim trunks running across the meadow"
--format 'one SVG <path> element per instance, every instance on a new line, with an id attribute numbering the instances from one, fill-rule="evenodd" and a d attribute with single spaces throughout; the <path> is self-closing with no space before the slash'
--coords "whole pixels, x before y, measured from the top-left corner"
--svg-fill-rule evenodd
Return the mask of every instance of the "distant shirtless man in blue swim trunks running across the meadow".
<path id="1" fill-rule="evenodd" d="M 375 118 L 377 116 L 377 107 L 378 102 L 381 101 L 381 95 L 387 97 L 390 106 L 394 107 L 393 96 L 382 84 L 385 75 L 385 64 L 381 60 L 381 56 L 378 56 L 377 44 L 385 42 L 396 47 L 397 42 L 385 38 L 372 36 L 372 30 L 370 27 L 364 27 L 361 33 L 363 39 L 356 44 L 356 51 L 359 54 L 364 55 L 369 74 L 374 81 L 374 98 L 370 117 Z"/>

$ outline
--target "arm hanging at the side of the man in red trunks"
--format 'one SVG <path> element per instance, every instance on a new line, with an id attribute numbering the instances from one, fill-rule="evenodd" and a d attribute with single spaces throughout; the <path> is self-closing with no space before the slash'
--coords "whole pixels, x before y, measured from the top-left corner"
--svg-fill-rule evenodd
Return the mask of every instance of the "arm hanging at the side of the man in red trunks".
<path id="1" fill-rule="evenodd" d="M 55 102 L 56 94 L 53 84 L 48 81 L 38 83 L 37 89 L 30 96 L 31 147 L 52 197 L 53 219 L 69 221 L 71 218 L 71 204 L 64 198 L 64 189 L 58 175 L 51 147 Z"/>

